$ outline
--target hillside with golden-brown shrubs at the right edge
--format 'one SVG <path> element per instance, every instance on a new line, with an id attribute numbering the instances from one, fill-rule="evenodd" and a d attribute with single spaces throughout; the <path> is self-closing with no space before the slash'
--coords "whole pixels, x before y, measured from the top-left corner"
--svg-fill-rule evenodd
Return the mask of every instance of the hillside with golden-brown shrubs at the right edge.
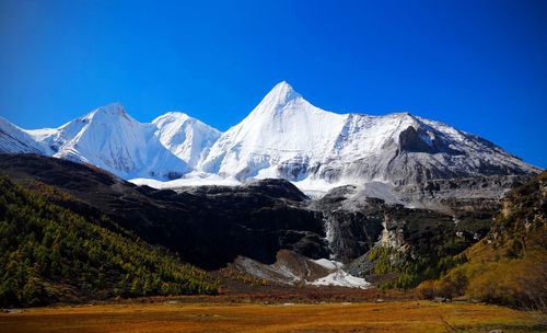
<path id="1" fill-rule="evenodd" d="M 462 254 L 466 263 L 420 290 L 547 312 L 546 217 L 544 172 L 508 194 L 488 236 Z"/>

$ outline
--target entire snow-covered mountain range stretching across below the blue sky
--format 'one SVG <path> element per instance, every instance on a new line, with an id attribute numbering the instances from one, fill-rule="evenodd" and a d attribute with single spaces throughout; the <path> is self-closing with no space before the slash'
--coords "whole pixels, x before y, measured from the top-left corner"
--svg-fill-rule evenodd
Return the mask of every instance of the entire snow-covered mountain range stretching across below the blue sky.
<path id="1" fill-rule="evenodd" d="M 408 113 L 323 111 L 287 82 L 225 133 L 175 112 L 142 124 L 110 104 L 53 129 L 24 130 L 0 118 L 0 152 L 39 152 L 125 179 L 181 177 L 162 186 L 282 177 L 325 188 L 540 171 L 485 139 Z"/>

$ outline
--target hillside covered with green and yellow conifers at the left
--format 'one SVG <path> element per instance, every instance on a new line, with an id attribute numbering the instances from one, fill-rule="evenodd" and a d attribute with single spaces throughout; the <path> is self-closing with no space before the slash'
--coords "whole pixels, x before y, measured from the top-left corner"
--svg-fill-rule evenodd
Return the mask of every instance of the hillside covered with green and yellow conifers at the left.
<path id="1" fill-rule="evenodd" d="M 81 208 L 44 183 L 0 176 L 0 306 L 219 292 L 205 272 Z"/>

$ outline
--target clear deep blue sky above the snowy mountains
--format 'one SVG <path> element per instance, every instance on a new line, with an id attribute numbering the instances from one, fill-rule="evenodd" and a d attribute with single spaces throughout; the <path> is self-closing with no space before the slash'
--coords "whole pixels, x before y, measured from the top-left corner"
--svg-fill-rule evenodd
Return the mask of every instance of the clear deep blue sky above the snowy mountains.
<path id="1" fill-rule="evenodd" d="M 547 1 L 0 0 L 0 115 L 121 102 L 225 130 L 279 81 L 333 112 L 412 114 L 547 168 Z"/>

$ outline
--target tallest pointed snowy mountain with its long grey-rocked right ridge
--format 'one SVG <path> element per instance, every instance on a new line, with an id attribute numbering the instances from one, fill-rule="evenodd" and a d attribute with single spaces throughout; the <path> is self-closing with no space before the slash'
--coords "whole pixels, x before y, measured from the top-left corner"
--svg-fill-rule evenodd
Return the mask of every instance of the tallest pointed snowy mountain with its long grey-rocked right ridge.
<path id="1" fill-rule="evenodd" d="M 428 179 L 537 172 L 477 136 L 408 113 L 335 114 L 277 84 L 199 164 L 222 176 L 393 184 Z"/>

